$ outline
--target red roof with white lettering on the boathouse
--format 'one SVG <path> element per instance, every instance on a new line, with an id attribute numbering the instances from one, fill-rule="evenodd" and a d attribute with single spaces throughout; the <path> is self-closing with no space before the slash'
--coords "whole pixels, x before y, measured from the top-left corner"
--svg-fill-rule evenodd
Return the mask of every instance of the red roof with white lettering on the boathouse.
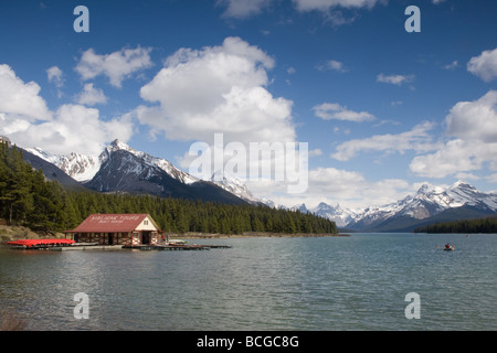
<path id="1" fill-rule="evenodd" d="M 67 233 L 127 233 L 135 231 L 146 217 L 159 229 L 148 214 L 92 214 Z"/>

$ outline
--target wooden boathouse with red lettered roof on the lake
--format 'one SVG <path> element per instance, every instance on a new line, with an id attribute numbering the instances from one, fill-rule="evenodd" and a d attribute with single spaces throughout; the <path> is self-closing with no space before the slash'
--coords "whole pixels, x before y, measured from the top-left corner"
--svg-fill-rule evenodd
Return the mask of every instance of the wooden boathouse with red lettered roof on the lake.
<path id="1" fill-rule="evenodd" d="M 92 214 L 72 231 L 76 243 L 99 245 L 156 245 L 162 232 L 148 214 Z"/>

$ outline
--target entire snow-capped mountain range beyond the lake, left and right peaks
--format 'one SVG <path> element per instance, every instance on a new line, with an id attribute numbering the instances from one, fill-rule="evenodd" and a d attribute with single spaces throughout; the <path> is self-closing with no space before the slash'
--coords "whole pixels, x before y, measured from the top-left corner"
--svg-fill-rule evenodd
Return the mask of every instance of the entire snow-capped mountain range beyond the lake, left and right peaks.
<path id="1" fill-rule="evenodd" d="M 75 152 L 55 156 L 38 148 L 25 151 L 24 159 L 34 168 L 42 168 L 47 179 L 72 188 L 276 206 L 271 200 L 255 197 L 239 180 L 220 178 L 216 173 L 210 181 L 199 180 L 171 162 L 136 151 L 119 140 L 113 141 L 97 158 Z M 458 181 L 448 188 L 423 184 L 415 194 L 395 203 L 359 211 L 327 203 L 310 210 L 305 204 L 292 208 L 314 213 L 356 232 L 411 232 L 435 222 L 495 214 L 497 194 L 479 192 Z"/>

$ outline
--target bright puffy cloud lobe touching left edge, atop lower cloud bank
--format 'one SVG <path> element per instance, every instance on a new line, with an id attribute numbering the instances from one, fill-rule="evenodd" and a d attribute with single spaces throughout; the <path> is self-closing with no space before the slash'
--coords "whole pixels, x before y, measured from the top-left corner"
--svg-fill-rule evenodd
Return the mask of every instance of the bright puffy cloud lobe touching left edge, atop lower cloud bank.
<path id="1" fill-rule="evenodd" d="M 50 119 L 51 113 L 39 95 L 40 89 L 36 83 L 24 83 L 15 76 L 9 65 L 0 65 L 0 113 L 3 114 L 4 120 L 9 120 L 2 124 L 2 129 L 6 129 L 12 120 Z"/>

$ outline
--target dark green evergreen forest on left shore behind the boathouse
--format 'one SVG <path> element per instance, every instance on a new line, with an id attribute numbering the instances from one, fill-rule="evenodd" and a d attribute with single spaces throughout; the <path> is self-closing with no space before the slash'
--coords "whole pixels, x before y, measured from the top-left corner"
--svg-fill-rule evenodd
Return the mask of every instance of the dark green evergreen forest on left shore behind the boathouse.
<path id="1" fill-rule="evenodd" d="M 35 231 L 72 229 L 94 213 L 148 213 L 170 233 L 337 233 L 314 214 L 256 205 L 226 205 L 150 195 L 67 191 L 23 161 L 22 151 L 0 146 L 0 217 Z"/>

